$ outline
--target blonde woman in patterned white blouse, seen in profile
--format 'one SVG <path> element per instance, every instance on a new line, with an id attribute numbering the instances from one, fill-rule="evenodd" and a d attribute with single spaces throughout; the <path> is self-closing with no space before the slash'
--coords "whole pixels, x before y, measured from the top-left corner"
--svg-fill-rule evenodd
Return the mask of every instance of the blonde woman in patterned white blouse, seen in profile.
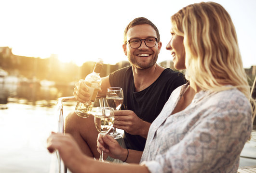
<path id="1" fill-rule="evenodd" d="M 166 49 L 174 67 L 186 69 L 189 83 L 175 89 L 151 124 L 143 153 L 98 136 L 98 150 L 140 164 L 94 161 L 70 136 L 53 134 L 49 151 L 58 149 L 73 173 L 236 173 L 256 112 L 231 18 L 221 5 L 202 2 L 181 9 L 171 22 Z"/>

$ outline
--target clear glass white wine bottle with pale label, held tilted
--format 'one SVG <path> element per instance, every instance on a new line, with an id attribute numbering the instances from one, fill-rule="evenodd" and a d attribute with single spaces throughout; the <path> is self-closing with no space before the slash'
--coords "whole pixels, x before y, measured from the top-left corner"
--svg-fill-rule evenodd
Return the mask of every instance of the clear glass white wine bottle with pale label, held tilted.
<path id="1" fill-rule="evenodd" d="M 78 101 L 75 109 L 76 114 L 82 118 L 87 118 L 91 114 L 91 111 L 93 109 L 95 99 L 101 86 L 101 78 L 99 74 L 102 66 L 102 59 L 98 59 L 94 66 L 93 73 L 88 74 L 84 79 L 84 83 L 89 89 L 88 92 L 90 93 L 90 100 L 85 103 L 81 103 Z"/>

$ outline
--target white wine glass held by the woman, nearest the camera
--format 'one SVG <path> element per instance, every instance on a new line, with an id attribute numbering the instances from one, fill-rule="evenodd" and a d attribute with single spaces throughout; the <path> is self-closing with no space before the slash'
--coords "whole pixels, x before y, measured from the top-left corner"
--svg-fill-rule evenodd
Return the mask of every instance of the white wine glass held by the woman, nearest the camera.
<path id="1" fill-rule="evenodd" d="M 97 107 L 94 116 L 94 124 L 100 135 L 106 135 L 114 124 L 114 109 L 109 107 Z M 99 161 L 103 160 L 103 151 L 100 152 Z"/>

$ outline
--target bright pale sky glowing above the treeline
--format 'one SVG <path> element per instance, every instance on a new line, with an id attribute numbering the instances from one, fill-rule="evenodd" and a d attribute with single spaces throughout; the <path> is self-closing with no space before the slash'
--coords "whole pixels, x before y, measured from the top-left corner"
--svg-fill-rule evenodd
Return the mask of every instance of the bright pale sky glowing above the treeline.
<path id="1" fill-rule="evenodd" d="M 0 0 L 0 47 L 13 54 L 48 58 L 81 66 L 102 58 L 115 64 L 127 60 L 123 31 L 136 17 L 146 17 L 159 29 L 158 62 L 172 60 L 166 44 L 170 17 L 202 0 Z M 230 14 L 236 27 L 243 67 L 256 65 L 256 0 L 212 0 Z"/>

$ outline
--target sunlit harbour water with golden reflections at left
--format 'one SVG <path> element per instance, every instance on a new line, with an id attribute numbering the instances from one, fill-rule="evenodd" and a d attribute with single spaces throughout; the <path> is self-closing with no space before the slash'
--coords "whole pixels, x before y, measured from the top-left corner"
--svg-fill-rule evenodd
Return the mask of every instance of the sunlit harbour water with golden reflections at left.
<path id="1" fill-rule="evenodd" d="M 59 97 L 72 96 L 71 84 L 0 77 L 0 173 L 58 173 L 56 154 L 46 149 L 58 131 Z M 63 104 L 64 117 L 76 102 Z"/>

